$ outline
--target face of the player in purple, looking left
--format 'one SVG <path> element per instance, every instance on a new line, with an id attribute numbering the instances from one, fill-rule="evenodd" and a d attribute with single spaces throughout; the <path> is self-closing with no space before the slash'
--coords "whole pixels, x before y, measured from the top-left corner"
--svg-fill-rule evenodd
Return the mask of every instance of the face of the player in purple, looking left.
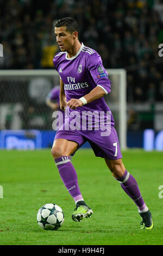
<path id="1" fill-rule="evenodd" d="M 66 27 L 55 27 L 55 36 L 62 52 L 71 50 L 74 44 L 73 33 L 66 31 Z"/>

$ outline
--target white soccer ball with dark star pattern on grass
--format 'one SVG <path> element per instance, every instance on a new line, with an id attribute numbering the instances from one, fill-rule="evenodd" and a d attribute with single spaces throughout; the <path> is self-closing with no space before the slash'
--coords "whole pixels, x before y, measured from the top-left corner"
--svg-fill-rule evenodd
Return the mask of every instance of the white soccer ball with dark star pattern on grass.
<path id="1" fill-rule="evenodd" d="M 64 223 L 64 212 L 57 204 L 42 205 L 37 212 L 37 223 L 46 230 L 57 230 Z"/>

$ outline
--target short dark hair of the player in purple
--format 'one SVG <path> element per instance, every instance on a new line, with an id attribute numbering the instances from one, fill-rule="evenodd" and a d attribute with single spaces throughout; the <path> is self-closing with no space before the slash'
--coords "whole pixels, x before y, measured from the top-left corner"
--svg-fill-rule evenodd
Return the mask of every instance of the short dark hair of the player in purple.
<path id="1" fill-rule="evenodd" d="M 60 19 L 54 22 L 54 27 L 57 27 L 57 28 L 66 27 L 66 31 L 70 32 L 71 34 L 74 31 L 78 32 L 79 30 L 78 22 L 71 17 L 65 17 L 63 19 Z"/>

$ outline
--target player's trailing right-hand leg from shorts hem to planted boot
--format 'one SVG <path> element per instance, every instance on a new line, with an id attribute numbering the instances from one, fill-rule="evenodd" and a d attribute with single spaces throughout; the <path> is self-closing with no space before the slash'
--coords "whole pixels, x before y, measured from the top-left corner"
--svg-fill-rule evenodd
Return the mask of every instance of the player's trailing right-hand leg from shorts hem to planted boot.
<path id="1" fill-rule="evenodd" d="M 137 205 L 139 214 L 142 218 L 141 229 L 152 229 L 153 221 L 152 214 L 147 208 L 135 178 L 126 170 L 123 165 L 122 159 L 109 160 L 105 158 L 106 165 L 111 170 L 114 178 L 120 182 L 122 189 L 133 199 Z"/>

